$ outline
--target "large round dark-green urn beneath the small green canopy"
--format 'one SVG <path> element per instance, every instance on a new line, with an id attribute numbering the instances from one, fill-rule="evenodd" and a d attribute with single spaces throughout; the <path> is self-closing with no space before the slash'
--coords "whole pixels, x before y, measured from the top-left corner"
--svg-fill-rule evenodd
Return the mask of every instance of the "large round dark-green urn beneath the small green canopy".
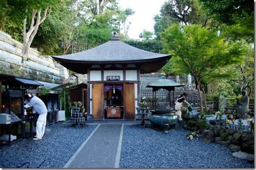
<path id="1" fill-rule="evenodd" d="M 151 110 L 149 121 L 153 127 L 161 127 L 164 133 L 168 133 L 170 128 L 175 128 L 178 116 L 174 110 Z"/>

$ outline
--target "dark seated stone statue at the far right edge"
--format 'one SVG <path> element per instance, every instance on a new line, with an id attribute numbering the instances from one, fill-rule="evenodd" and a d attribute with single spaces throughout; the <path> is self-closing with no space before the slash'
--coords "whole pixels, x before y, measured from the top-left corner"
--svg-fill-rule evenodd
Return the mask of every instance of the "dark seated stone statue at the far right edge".
<path id="1" fill-rule="evenodd" d="M 237 118 L 250 118 L 248 112 L 249 109 L 249 96 L 246 95 L 246 91 L 242 90 L 242 97 L 240 102 L 235 105 L 235 110 L 237 111 Z"/>

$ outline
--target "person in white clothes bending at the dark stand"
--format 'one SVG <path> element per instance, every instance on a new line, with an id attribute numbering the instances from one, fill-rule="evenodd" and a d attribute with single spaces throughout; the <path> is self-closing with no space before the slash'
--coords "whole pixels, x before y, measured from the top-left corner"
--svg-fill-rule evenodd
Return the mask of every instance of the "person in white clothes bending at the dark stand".
<path id="1" fill-rule="evenodd" d="M 26 109 L 26 108 L 33 107 L 33 109 L 35 109 L 37 114 L 39 114 L 36 122 L 36 136 L 35 136 L 36 138 L 33 138 L 33 140 L 40 140 L 44 136 L 47 108 L 44 102 L 37 96 L 26 94 L 25 100 L 28 101 L 28 104 L 24 105 L 24 108 Z"/>

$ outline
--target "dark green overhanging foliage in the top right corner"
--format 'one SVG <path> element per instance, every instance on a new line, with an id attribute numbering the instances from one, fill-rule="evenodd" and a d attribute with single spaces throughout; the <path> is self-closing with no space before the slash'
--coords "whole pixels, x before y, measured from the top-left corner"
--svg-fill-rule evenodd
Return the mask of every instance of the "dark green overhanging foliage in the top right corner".
<path id="1" fill-rule="evenodd" d="M 245 39 L 254 42 L 254 3 L 248 0 L 199 0 L 207 16 L 217 20 L 219 30 L 233 41 Z"/>

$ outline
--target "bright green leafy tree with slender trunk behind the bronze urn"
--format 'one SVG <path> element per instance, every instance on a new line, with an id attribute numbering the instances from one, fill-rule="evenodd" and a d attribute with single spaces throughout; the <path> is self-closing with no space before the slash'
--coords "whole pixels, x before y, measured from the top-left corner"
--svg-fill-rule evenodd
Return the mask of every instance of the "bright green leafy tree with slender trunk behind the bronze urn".
<path id="1" fill-rule="evenodd" d="M 161 38 L 164 41 L 165 51 L 173 54 L 171 60 L 164 67 L 167 73 L 191 73 L 197 84 L 200 113 L 206 101 L 203 80 L 210 77 L 219 69 L 225 68 L 233 63 L 241 62 L 241 54 L 244 49 L 238 42 L 232 44 L 225 38 L 218 36 L 217 30 L 208 30 L 201 25 L 181 26 L 175 24 L 170 26 Z M 201 96 L 200 90 L 203 90 Z"/>

